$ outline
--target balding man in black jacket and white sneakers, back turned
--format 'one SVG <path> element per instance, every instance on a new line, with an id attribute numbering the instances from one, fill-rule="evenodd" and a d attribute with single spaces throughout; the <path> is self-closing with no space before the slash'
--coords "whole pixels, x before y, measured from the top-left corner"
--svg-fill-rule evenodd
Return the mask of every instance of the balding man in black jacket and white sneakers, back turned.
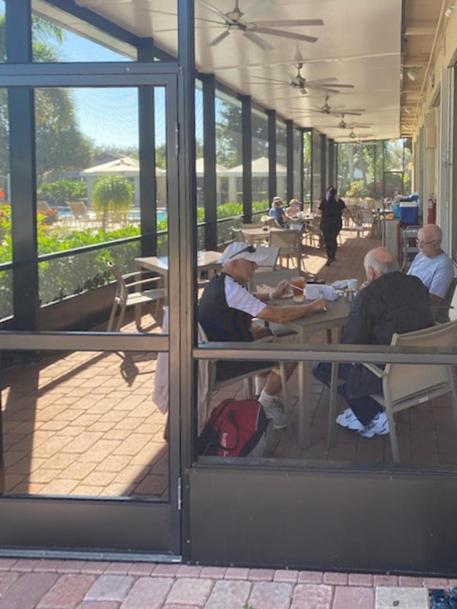
<path id="1" fill-rule="evenodd" d="M 369 251 L 363 266 L 366 283 L 351 303 L 341 343 L 388 345 L 394 332 L 403 334 L 433 326 L 426 287 L 417 277 L 401 273 L 388 249 Z M 319 363 L 313 374 L 330 385 L 331 363 Z M 341 364 L 338 376 L 346 381 L 338 393 L 349 408 L 336 417 L 336 423 L 358 431 L 363 438 L 388 433 L 386 412 L 370 397 L 371 393 L 382 393 L 381 379 L 361 363 Z"/>

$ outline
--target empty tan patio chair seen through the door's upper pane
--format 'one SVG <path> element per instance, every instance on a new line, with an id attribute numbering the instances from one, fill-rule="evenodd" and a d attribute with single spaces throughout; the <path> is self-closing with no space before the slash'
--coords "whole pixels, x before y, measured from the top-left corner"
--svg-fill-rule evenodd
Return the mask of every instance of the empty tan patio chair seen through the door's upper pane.
<path id="1" fill-rule="evenodd" d="M 127 273 L 122 275 L 119 271 L 119 267 L 111 261 L 108 261 L 108 267 L 116 278 L 116 293 L 114 294 L 113 306 L 111 307 L 111 313 L 109 316 L 108 332 L 113 331 L 114 320 L 116 318 L 116 312 L 119 307 L 119 318 L 116 323 L 114 331 L 119 332 L 122 324 L 124 323 L 124 316 L 126 308 L 129 306 L 135 307 L 135 322 L 136 328 L 140 332 L 141 328 L 141 306 L 144 303 L 156 303 L 156 312 L 159 302 L 166 298 L 166 290 L 164 288 L 144 289 L 147 285 L 155 283 L 160 280 L 160 277 L 143 278 L 141 277 L 141 271 L 135 273 Z"/>

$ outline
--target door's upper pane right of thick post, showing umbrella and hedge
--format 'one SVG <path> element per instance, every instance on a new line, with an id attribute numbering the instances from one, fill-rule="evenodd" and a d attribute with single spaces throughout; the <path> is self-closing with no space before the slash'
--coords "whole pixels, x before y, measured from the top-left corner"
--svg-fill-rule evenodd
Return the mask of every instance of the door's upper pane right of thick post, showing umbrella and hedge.
<path id="1" fill-rule="evenodd" d="M 39 296 L 41 306 L 53 303 L 41 311 L 47 329 L 76 329 L 82 324 L 89 330 L 86 324 L 90 323 L 108 327 L 116 286 L 108 262 L 114 262 L 121 274 L 140 271 L 136 258 L 142 251 L 141 214 L 157 243 L 152 251 L 151 240 L 145 239 L 148 255 L 168 253 L 165 89 L 156 87 L 151 94 L 156 217 L 149 193 L 142 195 L 139 188 L 138 89 L 35 91 Z M 151 331 L 161 331 L 162 307 L 158 305 L 159 301 L 163 305 L 164 298 L 159 298 L 159 290 L 166 285 L 166 268 L 162 272 L 154 268 L 152 272 L 159 276 L 153 283 L 128 288 L 129 294 L 147 291 L 151 296 L 140 297 L 143 307 L 131 306 L 133 295 L 127 298 L 124 322 L 133 324 L 131 331 L 135 331 L 134 313 L 138 327 L 144 324 Z M 143 270 L 151 276 L 150 268 Z M 143 320 L 143 313 L 151 313 L 153 319 Z"/>

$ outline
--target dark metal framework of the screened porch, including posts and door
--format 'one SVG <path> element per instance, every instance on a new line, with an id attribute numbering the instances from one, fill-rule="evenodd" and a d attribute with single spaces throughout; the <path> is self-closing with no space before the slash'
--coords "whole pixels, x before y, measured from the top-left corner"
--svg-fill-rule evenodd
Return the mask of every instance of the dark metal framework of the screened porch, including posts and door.
<path id="1" fill-rule="evenodd" d="M 424 350 L 423 353 L 411 354 L 392 348 L 377 348 L 373 352 L 371 348 L 353 346 L 323 346 L 313 349 L 312 346 L 301 345 L 275 345 L 274 348 L 265 345 L 258 348 L 246 343 L 233 343 L 230 348 L 226 348 L 223 343 L 208 344 L 205 348 L 196 347 L 194 3 L 189 0 L 178 1 L 179 60 L 176 63 L 170 61 L 172 58 L 159 49 L 154 49 L 152 41 L 141 41 L 69 0 L 53 0 L 55 6 L 111 31 L 111 34 L 119 36 L 126 44 L 135 45 L 142 61 L 128 64 L 128 72 L 125 64 L 28 64 L 29 56 L 21 56 L 21 53 L 30 44 L 29 23 L 19 24 L 19 16 L 23 19 L 24 15 L 28 15 L 29 19 L 30 0 L 6 0 L 6 3 L 9 10 L 9 37 L 11 39 L 13 34 L 14 46 L 17 45 L 16 58 L 19 60 L 14 65 L 0 65 L 0 78 L 2 86 L 21 92 L 22 96 L 17 98 L 18 104 L 21 104 L 18 107 L 22 107 L 22 120 L 24 121 L 24 116 L 26 118 L 26 135 L 22 141 L 17 132 L 19 113 L 13 113 L 14 131 L 11 134 L 14 134 L 13 146 L 18 146 L 18 150 L 11 151 L 13 171 L 16 171 L 19 163 L 19 149 L 24 151 L 29 145 L 25 157 L 25 189 L 21 191 L 17 181 L 14 186 L 15 201 L 17 198 L 22 211 L 26 215 L 33 215 L 34 203 L 26 205 L 25 199 L 31 196 L 31 201 L 34 201 L 36 196 L 31 171 L 34 166 L 33 107 L 31 97 L 26 94 L 34 86 L 137 86 L 144 91 L 141 94 L 141 124 L 146 130 L 154 129 L 151 117 L 146 112 L 151 103 L 150 88 L 154 85 L 166 86 L 169 91 L 169 201 L 177 201 L 177 204 L 169 206 L 169 234 L 171 238 L 176 238 L 176 247 L 170 248 L 169 252 L 169 336 L 35 334 L 16 331 L 1 334 L 2 348 L 6 350 L 66 351 L 71 348 L 92 351 L 169 351 L 170 403 L 176 405 L 170 414 L 170 479 L 173 482 L 170 501 L 154 503 L 135 500 L 1 498 L 1 517 L 4 522 L 11 523 L 0 533 L 0 544 L 3 545 L 4 552 L 11 552 L 11 547 L 18 545 L 21 545 L 22 550 L 31 547 L 51 549 L 56 548 L 56 543 L 61 544 L 62 548 L 100 550 L 104 548 L 105 539 L 109 538 L 116 544 L 116 550 L 121 552 L 131 550 L 134 546 L 138 552 L 159 552 L 169 560 L 179 560 L 178 555 L 182 553 L 185 560 L 213 564 L 455 573 L 457 560 L 453 538 L 456 533 L 454 513 L 457 508 L 457 492 L 453 484 L 456 480 L 454 472 L 437 468 L 421 471 L 418 475 L 416 470 L 397 465 L 368 468 L 321 463 L 310 465 L 288 460 L 194 462 L 195 378 L 199 359 L 276 360 L 280 352 L 281 360 L 284 361 L 419 363 L 429 362 L 433 358 L 433 363 L 457 364 L 455 350 L 445 353 Z M 15 24 L 14 31 L 12 23 Z M 19 36 L 16 36 L 16 28 L 21 33 Z M 153 52 L 169 63 L 151 62 Z M 205 79 L 206 77 L 203 78 L 204 87 Z M 214 79 L 212 84 L 210 78 L 206 80 L 206 89 L 204 99 L 206 98 L 206 107 L 209 108 L 211 104 L 214 105 L 214 92 L 211 92 L 215 89 Z M 174 99 L 178 100 L 177 108 L 174 101 L 171 101 Z M 248 107 L 252 108 L 256 104 L 247 98 L 241 101 L 244 133 L 244 126 L 247 127 L 251 120 Z M 175 115 L 176 122 L 171 120 L 171 115 Z M 267 115 L 268 191 L 272 198 L 276 194 L 276 113 L 271 110 L 267 111 Z M 23 126 L 24 123 L 21 124 L 21 129 Z M 287 126 L 289 133 L 289 123 Z M 211 113 L 206 129 L 209 134 L 215 131 Z M 251 139 L 250 131 L 248 129 Z M 303 133 L 305 131 L 308 130 L 303 130 Z M 321 155 L 318 159 L 314 157 L 314 141 L 311 137 L 312 158 L 313 163 L 321 166 L 320 186 L 324 191 L 326 140 L 325 136 L 318 137 L 323 144 Z M 293 175 L 289 141 L 288 137 L 288 193 L 290 174 Z M 205 183 L 205 196 L 211 197 L 216 190 L 216 150 L 214 142 L 208 146 L 205 156 L 208 153 L 209 181 Z M 246 176 L 251 156 L 249 144 L 243 141 L 243 169 L 246 170 Z M 144 141 L 141 144 L 141 162 L 146 161 L 151 166 L 154 163 L 153 157 L 154 149 Z M 303 159 L 303 153 L 301 158 Z M 331 176 L 330 156 L 328 166 L 328 175 Z M 303 171 L 301 180 L 303 194 Z M 154 188 L 154 183 L 145 181 L 143 186 Z M 314 186 L 312 174 L 311 201 L 318 196 L 318 193 L 313 192 Z M 249 218 L 248 191 L 243 196 L 246 196 L 245 217 Z M 21 200 L 23 203 L 20 203 Z M 151 213 L 149 206 L 144 211 L 146 218 L 142 228 L 147 232 L 153 229 L 154 210 Z M 207 211 L 207 219 L 214 222 L 214 203 L 208 203 Z M 149 218 L 147 213 L 151 213 Z M 17 226 L 14 231 L 16 230 Z M 14 237 L 19 239 L 19 243 L 26 239 L 31 239 L 30 243 L 33 243 L 33 227 L 29 223 L 25 235 L 14 232 Z M 206 243 L 213 245 L 214 241 L 208 238 Z M 149 249 L 145 246 L 144 251 Z M 17 263 L 26 262 L 28 253 L 26 245 L 24 251 L 19 249 L 13 267 Z M 30 271 L 27 276 L 30 285 L 34 286 L 33 273 Z M 33 318 L 33 311 L 26 313 L 29 317 L 24 313 L 24 318 Z M 179 481 L 181 471 L 184 472 L 182 519 L 178 510 L 178 485 L 174 484 Z M 221 526 L 221 521 L 224 526 Z M 126 527 L 125 523 L 129 523 L 129 526 Z M 446 530 L 443 530 L 443 523 L 446 523 Z M 49 533 L 50 530 L 52 533 Z M 149 537 L 146 531 L 149 532 Z M 233 535 L 233 531 L 236 531 L 236 535 Z M 359 539 L 361 543 L 358 543 Z"/>

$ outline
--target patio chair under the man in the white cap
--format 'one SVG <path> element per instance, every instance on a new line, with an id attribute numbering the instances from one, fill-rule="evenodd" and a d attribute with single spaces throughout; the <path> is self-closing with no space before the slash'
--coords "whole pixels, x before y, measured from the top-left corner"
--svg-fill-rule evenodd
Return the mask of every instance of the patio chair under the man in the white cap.
<path id="1" fill-rule="evenodd" d="M 198 324 L 199 332 L 199 343 L 208 343 L 208 338 L 201 324 Z M 276 341 L 275 336 L 266 336 L 266 338 L 259 338 L 255 343 L 272 343 Z M 277 368 L 277 363 L 272 361 L 271 365 L 265 366 L 255 371 L 249 371 L 232 378 L 224 379 L 223 381 L 216 380 L 216 361 L 215 360 L 200 360 L 199 361 L 199 428 L 203 427 L 206 423 L 210 411 L 209 405 L 211 403 L 211 397 L 213 393 L 219 391 L 224 387 L 233 385 L 238 381 L 243 381 L 244 388 L 246 391 L 246 398 L 252 398 L 253 392 L 253 378 L 263 373 L 269 373 L 273 368 Z M 281 388 L 283 393 L 283 406 L 284 411 L 289 415 L 288 408 L 288 393 L 287 393 L 287 376 L 286 376 L 286 364 L 284 362 L 279 363 L 279 372 L 281 374 Z M 289 433 L 291 432 L 291 424 L 288 426 Z"/>

